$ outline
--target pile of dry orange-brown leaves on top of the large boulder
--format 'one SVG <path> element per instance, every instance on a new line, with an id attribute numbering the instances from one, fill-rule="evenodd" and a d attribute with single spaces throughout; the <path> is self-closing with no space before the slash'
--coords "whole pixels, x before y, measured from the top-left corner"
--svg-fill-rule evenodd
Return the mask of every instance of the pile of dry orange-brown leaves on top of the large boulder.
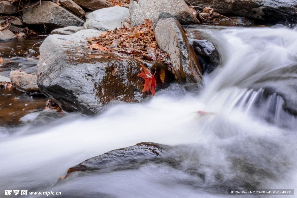
<path id="1" fill-rule="evenodd" d="M 105 31 L 88 40 L 87 47 L 100 52 L 126 54 L 135 58 L 159 60 L 170 64 L 167 53 L 159 49 L 152 28 L 153 22 L 145 19 L 145 23 L 137 27 L 119 28 Z"/>

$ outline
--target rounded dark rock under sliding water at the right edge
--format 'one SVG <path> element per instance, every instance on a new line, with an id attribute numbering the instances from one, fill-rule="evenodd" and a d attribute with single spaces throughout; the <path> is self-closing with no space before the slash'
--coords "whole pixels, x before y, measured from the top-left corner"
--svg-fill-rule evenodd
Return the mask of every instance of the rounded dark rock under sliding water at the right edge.
<path id="1" fill-rule="evenodd" d="M 283 109 L 297 115 L 297 66 L 287 66 L 268 72 L 250 88 L 263 88 L 266 94 L 276 93 L 285 100 Z"/>

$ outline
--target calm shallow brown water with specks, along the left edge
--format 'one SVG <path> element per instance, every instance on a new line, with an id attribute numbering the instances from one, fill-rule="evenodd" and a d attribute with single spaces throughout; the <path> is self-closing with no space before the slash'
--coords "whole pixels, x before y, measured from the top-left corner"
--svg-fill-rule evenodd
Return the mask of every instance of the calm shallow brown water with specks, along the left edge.
<path id="1" fill-rule="evenodd" d="M 11 70 L 26 69 L 26 73 L 35 72 L 39 55 L 39 46 L 45 38 L 24 38 L 0 42 L 0 53 L 3 62 L 0 63 L 2 72 L 0 75 L 9 77 Z M 38 43 L 40 42 L 40 43 Z M 36 44 L 38 43 L 38 44 Z M 34 45 L 36 44 L 36 45 Z M 34 46 L 33 46 L 34 45 Z M 29 51 L 30 49 L 34 51 Z M 23 57 L 23 59 L 12 59 Z M 26 123 L 21 119 L 28 113 L 42 110 L 46 106 L 48 98 L 31 96 L 14 88 L 0 89 L 0 125 L 15 125 Z"/>

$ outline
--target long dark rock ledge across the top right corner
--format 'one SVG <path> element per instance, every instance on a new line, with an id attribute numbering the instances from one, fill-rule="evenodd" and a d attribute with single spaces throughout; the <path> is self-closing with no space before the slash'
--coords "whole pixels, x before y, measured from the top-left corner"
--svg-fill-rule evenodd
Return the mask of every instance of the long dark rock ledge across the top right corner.
<path id="1" fill-rule="evenodd" d="M 185 0 L 193 6 L 213 7 L 220 14 L 234 14 L 268 22 L 297 20 L 297 0 Z M 198 8 L 198 7 L 197 7 Z"/>

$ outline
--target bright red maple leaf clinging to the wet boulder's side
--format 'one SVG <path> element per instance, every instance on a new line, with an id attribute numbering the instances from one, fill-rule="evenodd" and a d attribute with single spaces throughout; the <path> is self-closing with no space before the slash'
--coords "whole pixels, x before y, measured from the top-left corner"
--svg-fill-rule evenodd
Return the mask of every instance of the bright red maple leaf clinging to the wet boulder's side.
<path id="1" fill-rule="evenodd" d="M 145 66 L 143 66 L 143 64 L 141 64 L 141 66 L 142 66 L 143 71 L 141 71 L 141 73 L 138 74 L 137 76 L 142 77 L 144 79 L 142 92 L 148 91 L 148 92 L 151 92 L 154 96 L 155 88 L 157 86 L 157 81 L 155 79 L 155 74 L 156 74 L 157 68 L 155 68 L 156 71 L 155 71 L 154 75 L 152 75 L 151 72 L 149 72 L 149 70 L 146 69 Z"/>

